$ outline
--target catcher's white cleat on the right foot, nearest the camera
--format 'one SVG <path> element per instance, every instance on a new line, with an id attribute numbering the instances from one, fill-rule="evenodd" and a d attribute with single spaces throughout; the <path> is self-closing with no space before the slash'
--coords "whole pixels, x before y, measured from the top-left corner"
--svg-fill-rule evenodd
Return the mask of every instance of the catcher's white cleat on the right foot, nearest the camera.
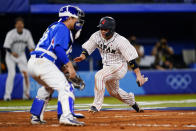
<path id="1" fill-rule="evenodd" d="M 67 126 L 84 126 L 84 122 L 77 121 L 72 114 L 67 116 L 61 115 L 59 123 Z"/>

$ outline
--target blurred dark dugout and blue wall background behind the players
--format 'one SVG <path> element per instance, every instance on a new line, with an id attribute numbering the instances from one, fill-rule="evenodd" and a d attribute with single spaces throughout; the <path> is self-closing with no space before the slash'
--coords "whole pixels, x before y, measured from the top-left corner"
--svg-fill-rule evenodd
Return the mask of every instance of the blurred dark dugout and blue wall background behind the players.
<path id="1" fill-rule="evenodd" d="M 15 18 L 24 19 L 25 28 L 32 33 L 35 44 L 53 22 L 58 21 L 60 7 L 71 4 L 85 12 L 85 25 L 75 41 L 72 57 L 81 53 L 81 45 L 103 16 L 112 16 L 116 32 L 126 37 L 138 51 L 137 60 L 142 73 L 149 77 L 144 88 L 137 87 L 129 72 L 121 81 L 122 88 L 136 95 L 196 93 L 196 0 L 1 0 L 0 1 L 0 99 L 5 91 L 7 68 L 3 48 L 7 32 L 14 28 Z M 172 50 L 168 53 L 165 47 Z M 160 58 L 160 52 L 164 56 Z M 26 53 L 29 59 L 29 53 Z M 88 60 L 77 66 L 87 88 L 76 96 L 93 96 L 94 74 L 101 69 L 101 58 L 96 50 Z M 13 98 L 21 98 L 22 77 L 15 77 Z M 131 75 L 131 76 L 130 76 Z M 91 78 L 91 79 L 90 79 Z M 131 79 L 130 83 L 127 80 Z M 31 97 L 39 87 L 33 79 Z M 106 95 L 108 93 L 106 92 Z"/>

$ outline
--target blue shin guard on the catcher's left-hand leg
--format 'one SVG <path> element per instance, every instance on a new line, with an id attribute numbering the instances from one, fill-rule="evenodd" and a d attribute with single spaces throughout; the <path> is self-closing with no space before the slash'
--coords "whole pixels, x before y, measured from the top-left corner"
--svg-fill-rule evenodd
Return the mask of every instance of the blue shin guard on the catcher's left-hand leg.
<path id="1" fill-rule="evenodd" d="M 31 110 L 30 113 L 40 117 L 42 109 L 44 107 L 45 101 L 44 100 L 40 100 L 38 98 L 35 98 L 33 101 L 33 104 L 31 106 Z"/>

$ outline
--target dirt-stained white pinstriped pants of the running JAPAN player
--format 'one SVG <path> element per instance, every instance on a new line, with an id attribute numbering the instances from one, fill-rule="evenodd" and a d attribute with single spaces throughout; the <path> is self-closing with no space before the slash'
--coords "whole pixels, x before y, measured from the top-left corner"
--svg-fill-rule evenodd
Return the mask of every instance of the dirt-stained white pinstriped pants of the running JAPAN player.
<path id="1" fill-rule="evenodd" d="M 133 93 L 127 93 L 126 91 L 119 88 L 119 80 L 122 79 L 127 73 L 127 63 L 119 65 L 104 66 L 103 69 L 95 74 L 95 88 L 94 88 L 94 102 L 98 110 L 101 109 L 105 87 L 109 94 L 116 97 L 120 101 L 132 106 L 135 103 L 135 97 Z"/>

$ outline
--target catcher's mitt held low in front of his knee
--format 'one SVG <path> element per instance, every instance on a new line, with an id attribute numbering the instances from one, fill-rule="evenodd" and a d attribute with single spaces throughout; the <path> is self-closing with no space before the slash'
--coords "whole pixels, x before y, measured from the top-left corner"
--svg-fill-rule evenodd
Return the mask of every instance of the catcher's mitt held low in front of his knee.
<path id="1" fill-rule="evenodd" d="M 78 90 L 83 90 L 85 88 L 84 81 L 80 78 L 80 76 L 76 76 L 75 78 L 70 79 L 69 74 L 65 74 L 67 80 L 72 83 L 73 87 Z"/>

